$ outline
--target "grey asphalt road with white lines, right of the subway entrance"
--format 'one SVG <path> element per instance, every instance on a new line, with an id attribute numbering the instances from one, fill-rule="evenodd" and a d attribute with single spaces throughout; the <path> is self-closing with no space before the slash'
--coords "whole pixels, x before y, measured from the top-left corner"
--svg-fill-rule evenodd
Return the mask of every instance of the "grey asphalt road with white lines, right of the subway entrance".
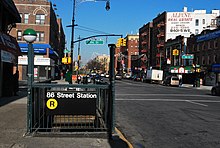
<path id="1" fill-rule="evenodd" d="M 116 81 L 116 126 L 141 148 L 219 148 L 220 97 L 208 90 Z"/>

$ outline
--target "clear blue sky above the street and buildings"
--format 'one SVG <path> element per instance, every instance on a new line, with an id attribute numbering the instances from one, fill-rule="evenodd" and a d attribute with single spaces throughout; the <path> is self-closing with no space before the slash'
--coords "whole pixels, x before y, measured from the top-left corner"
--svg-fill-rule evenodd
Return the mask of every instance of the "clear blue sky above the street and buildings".
<path id="1" fill-rule="evenodd" d="M 59 18 L 62 19 L 66 35 L 66 48 L 70 50 L 73 0 L 51 0 L 56 4 Z M 152 21 L 158 14 L 167 12 L 182 12 L 187 7 L 188 12 L 220 9 L 219 0 L 110 0 L 110 10 L 105 10 L 105 0 L 76 0 L 74 41 L 80 38 L 100 34 L 137 34 L 139 28 Z M 86 64 L 97 55 L 109 55 L 108 44 L 115 44 L 119 37 L 98 37 L 103 45 L 86 45 L 80 42 L 82 63 Z M 74 45 L 74 59 L 77 59 L 78 43 Z"/>

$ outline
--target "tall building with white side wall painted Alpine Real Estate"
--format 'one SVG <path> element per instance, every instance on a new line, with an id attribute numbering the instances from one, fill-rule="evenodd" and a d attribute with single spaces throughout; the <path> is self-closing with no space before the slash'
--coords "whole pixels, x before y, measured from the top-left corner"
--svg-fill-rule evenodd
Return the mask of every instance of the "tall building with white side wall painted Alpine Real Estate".
<path id="1" fill-rule="evenodd" d="M 179 35 L 187 38 L 191 34 L 200 34 L 207 28 L 210 30 L 216 29 L 217 17 L 219 15 L 220 10 L 212 10 L 208 14 L 206 10 L 188 12 L 186 7 L 184 7 L 183 12 L 163 12 L 158 14 L 153 19 L 151 66 L 157 69 L 164 68 L 164 65 L 167 63 L 164 46 L 168 39 L 175 39 Z M 187 45 L 186 39 L 185 45 Z M 141 46 L 139 50 L 144 50 L 144 46 Z"/>

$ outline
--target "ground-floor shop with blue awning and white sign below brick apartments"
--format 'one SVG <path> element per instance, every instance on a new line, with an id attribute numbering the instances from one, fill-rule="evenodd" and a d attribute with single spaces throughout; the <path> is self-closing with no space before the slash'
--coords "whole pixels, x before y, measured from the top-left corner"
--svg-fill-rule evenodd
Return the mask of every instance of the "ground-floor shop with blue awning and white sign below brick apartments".
<path id="1" fill-rule="evenodd" d="M 22 71 L 21 80 L 27 80 L 28 44 L 19 43 L 23 56 L 18 57 L 19 69 Z M 55 59 L 57 53 L 49 44 L 33 44 L 34 48 L 34 78 L 36 81 L 53 79 L 55 77 Z"/>

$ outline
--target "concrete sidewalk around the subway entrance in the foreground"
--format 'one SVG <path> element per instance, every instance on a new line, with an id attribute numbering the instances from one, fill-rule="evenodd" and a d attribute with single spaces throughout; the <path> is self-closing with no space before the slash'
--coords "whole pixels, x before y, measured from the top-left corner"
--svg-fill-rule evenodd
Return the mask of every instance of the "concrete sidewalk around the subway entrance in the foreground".
<path id="1" fill-rule="evenodd" d="M 58 83 L 64 83 L 61 80 Z M 128 148 L 125 140 L 106 137 L 32 137 L 25 136 L 27 123 L 27 91 L 18 96 L 0 98 L 0 148 Z"/>

